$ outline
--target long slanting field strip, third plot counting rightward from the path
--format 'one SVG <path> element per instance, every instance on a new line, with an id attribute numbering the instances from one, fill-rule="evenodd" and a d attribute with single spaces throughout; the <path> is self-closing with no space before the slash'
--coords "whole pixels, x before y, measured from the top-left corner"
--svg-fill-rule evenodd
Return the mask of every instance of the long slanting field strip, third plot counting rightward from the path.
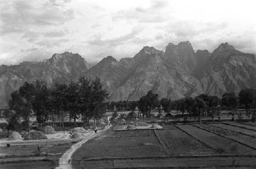
<path id="1" fill-rule="evenodd" d="M 234 154 L 232 151 L 232 146 L 237 145 L 238 154 L 255 154 L 255 151 L 251 148 L 243 146 L 235 141 L 232 141 L 228 138 L 218 136 L 217 134 L 210 133 L 203 129 L 199 129 L 191 125 L 179 125 L 180 129 L 186 131 L 187 133 L 193 135 L 194 137 L 200 139 L 201 141 L 208 144 L 210 147 L 219 151 L 222 154 Z"/>

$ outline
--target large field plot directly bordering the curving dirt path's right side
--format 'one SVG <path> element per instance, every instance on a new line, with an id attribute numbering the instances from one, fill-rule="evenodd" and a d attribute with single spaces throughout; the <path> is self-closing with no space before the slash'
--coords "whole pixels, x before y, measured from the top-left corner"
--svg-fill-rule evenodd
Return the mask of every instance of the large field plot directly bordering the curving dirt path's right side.
<path id="1" fill-rule="evenodd" d="M 139 131 L 139 130 L 138 130 Z M 144 133 L 144 130 L 139 133 Z M 150 130 L 149 130 L 150 131 Z M 128 132 L 127 134 L 125 132 Z M 109 135 L 101 136 L 89 140 L 82 145 L 74 155 L 74 159 L 103 158 L 103 157 L 133 157 L 133 156 L 163 156 L 165 152 L 155 136 L 139 136 L 137 131 L 132 136 L 134 130 L 111 131 Z M 153 132 L 153 131 L 152 131 Z M 117 137 L 114 137 L 114 135 Z M 154 134 L 154 133 L 153 133 Z M 84 154 L 82 149 L 86 149 L 88 154 Z M 73 157 L 72 157 L 73 158 Z"/>

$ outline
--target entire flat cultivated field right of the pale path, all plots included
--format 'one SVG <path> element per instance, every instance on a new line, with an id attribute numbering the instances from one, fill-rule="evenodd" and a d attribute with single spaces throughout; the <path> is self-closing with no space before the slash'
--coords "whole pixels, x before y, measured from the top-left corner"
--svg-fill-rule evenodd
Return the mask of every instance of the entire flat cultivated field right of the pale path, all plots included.
<path id="1" fill-rule="evenodd" d="M 72 166 L 255 168 L 255 138 L 218 125 L 225 124 L 109 130 L 84 143 L 72 156 Z"/>

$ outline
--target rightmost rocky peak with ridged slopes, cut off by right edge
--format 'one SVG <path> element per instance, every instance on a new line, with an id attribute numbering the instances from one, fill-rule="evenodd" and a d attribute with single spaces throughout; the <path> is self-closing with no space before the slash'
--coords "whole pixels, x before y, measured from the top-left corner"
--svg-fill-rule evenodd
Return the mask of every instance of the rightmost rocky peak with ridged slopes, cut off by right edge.
<path id="1" fill-rule="evenodd" d="M 200 86 L 207 94 L 221 96 L 225 92 L 256 88 L 255 56 L 242 53 L 228 43 L 222 43 L 212 52 L 204 70 Z"/>

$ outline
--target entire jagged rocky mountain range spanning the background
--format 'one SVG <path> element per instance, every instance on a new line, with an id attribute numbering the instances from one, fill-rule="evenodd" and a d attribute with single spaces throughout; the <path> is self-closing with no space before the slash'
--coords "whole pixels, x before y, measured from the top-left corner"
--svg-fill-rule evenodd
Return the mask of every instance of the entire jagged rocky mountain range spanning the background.
<path id="1" fill-rule="evenodd" d="M 110 100 L 138 100 L 148 90 L 159 98 L 180 99 L 200 93 L 222 96 L 243 88 L 256 89 L 256 58 L 222 43 L 212 53 L 194 51 L 189 41 L 169 43 L 165 52 L 144 46 L 133 58 L 103 58 L 89 68 L 79 54 L 54 54 L 42 62 L 0 66 L 0 108 L 24 82 L 69 83 L 81 76 L 99 77 Z"/>

